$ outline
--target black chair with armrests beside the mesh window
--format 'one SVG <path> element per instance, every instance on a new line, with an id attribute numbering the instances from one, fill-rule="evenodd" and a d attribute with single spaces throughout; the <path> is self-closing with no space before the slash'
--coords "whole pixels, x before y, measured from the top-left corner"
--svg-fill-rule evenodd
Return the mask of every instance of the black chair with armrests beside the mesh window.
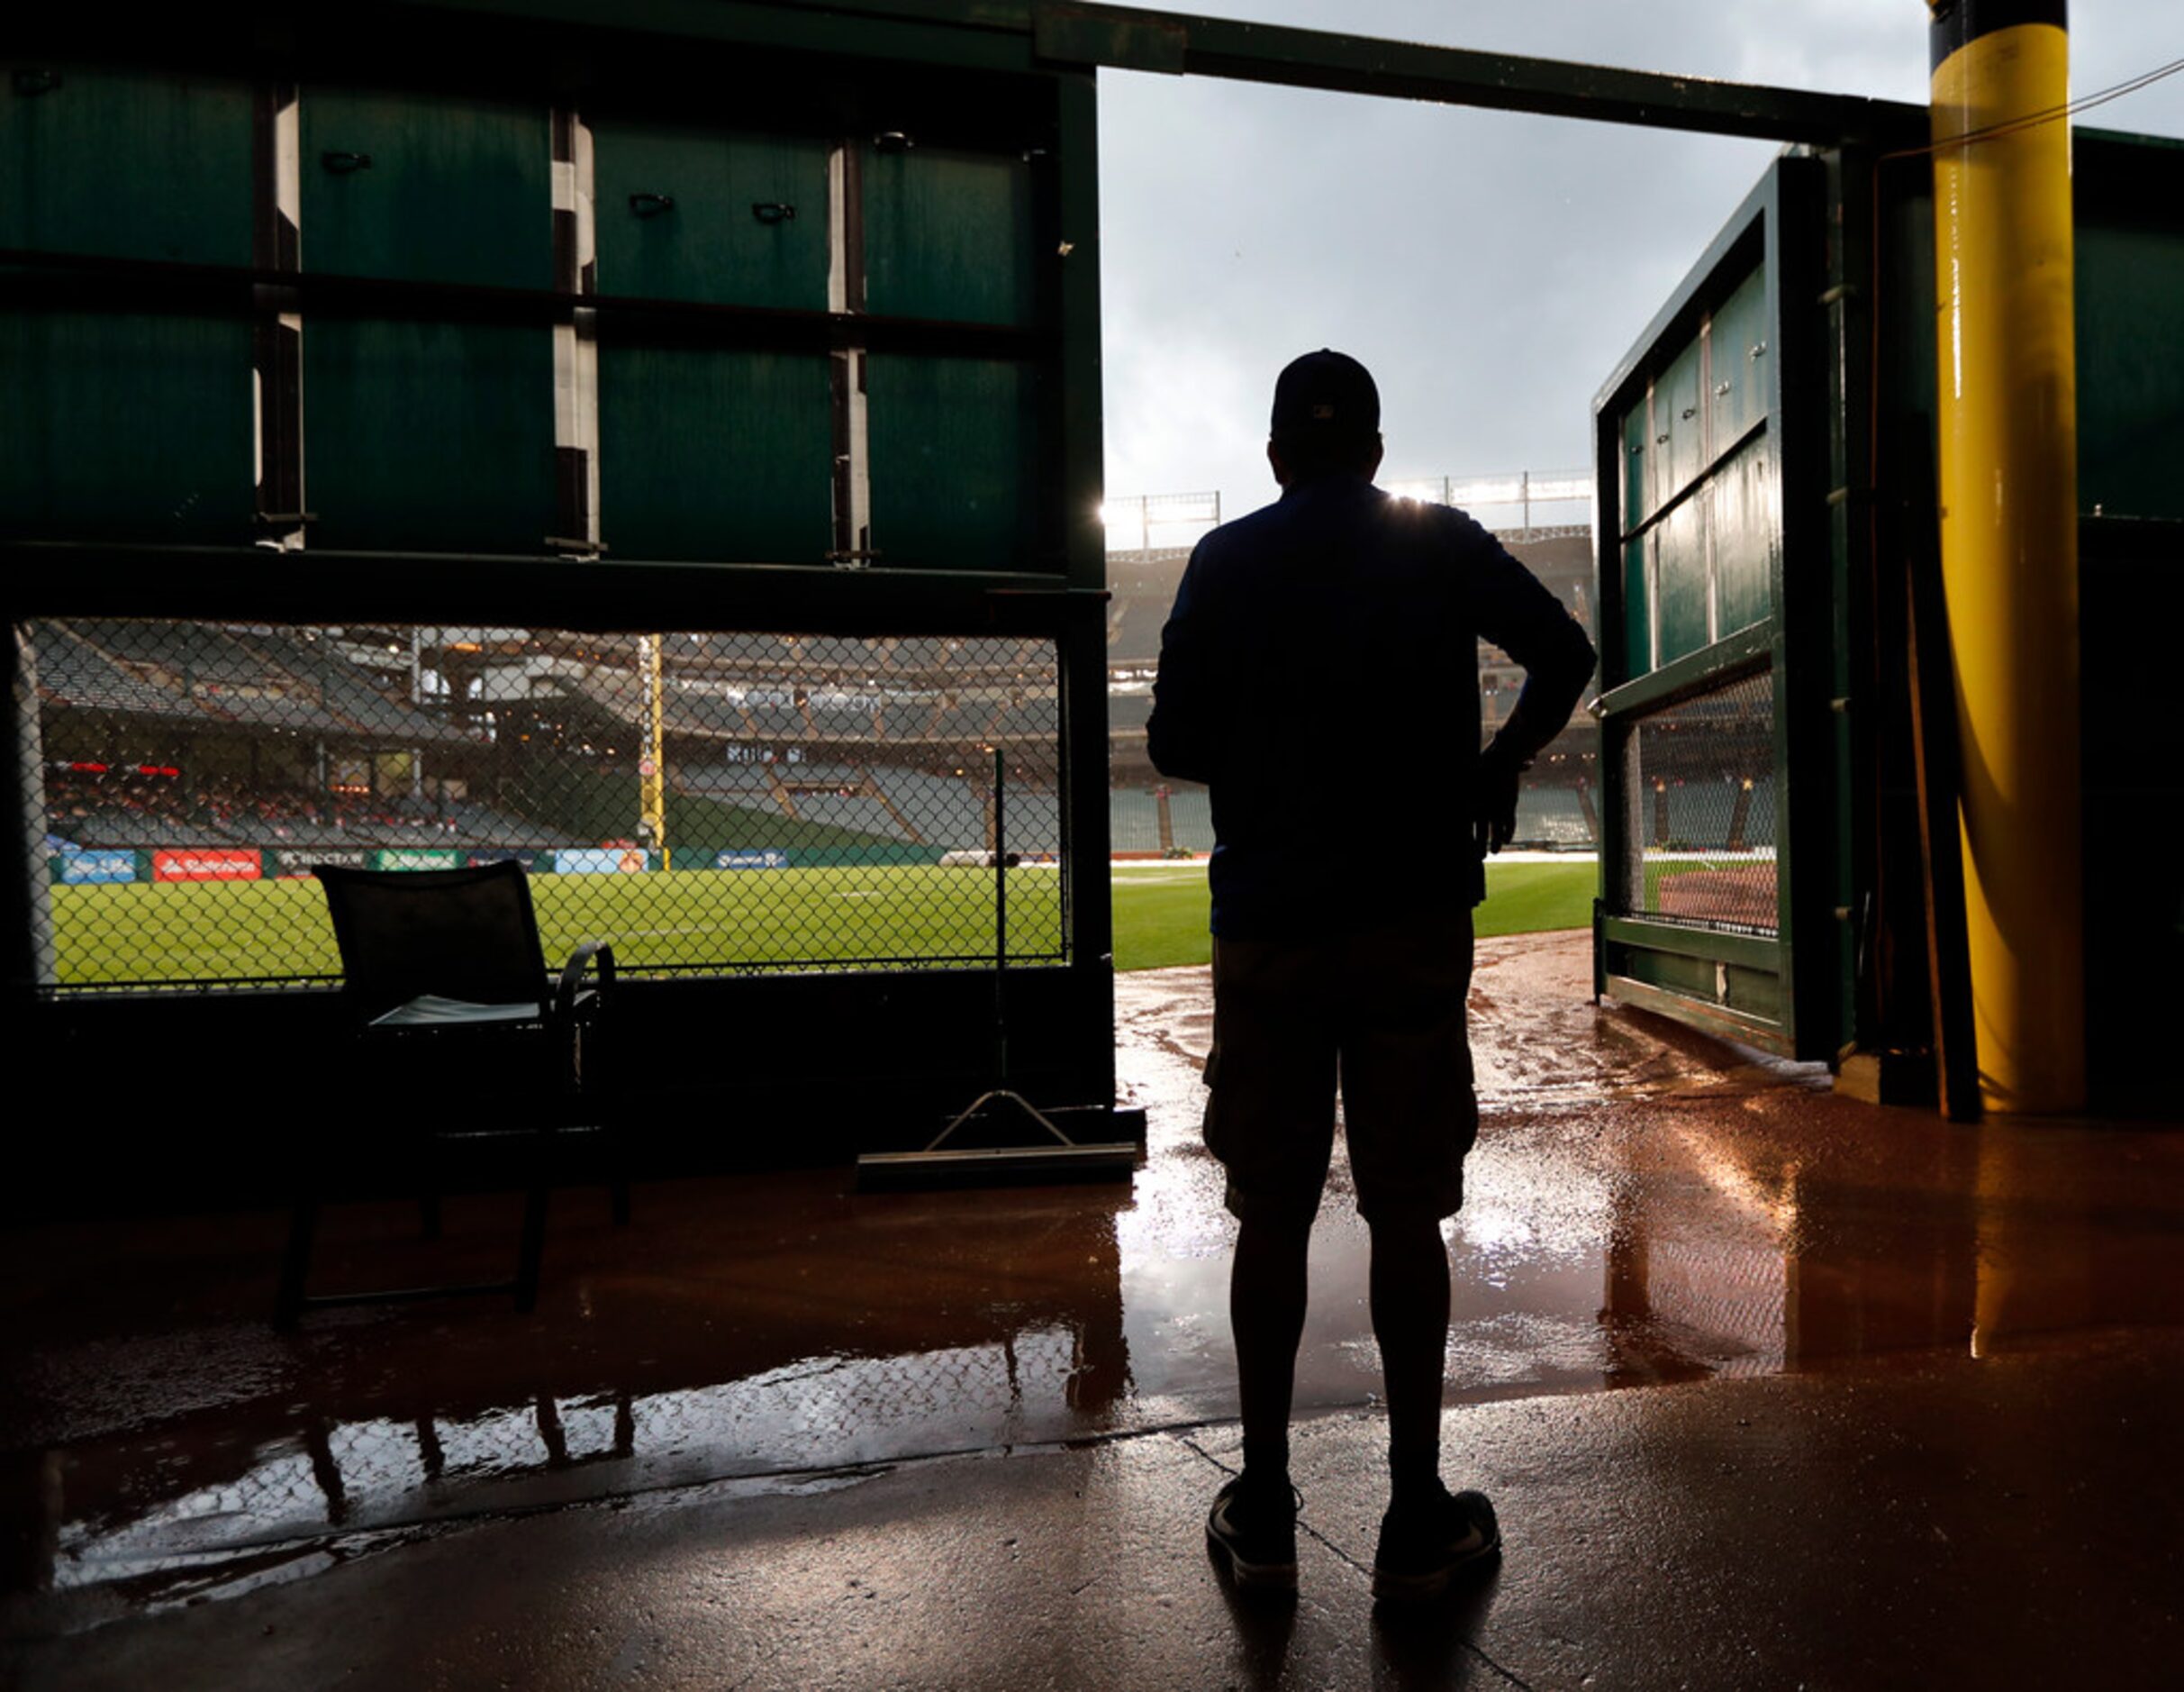
<path id="1" fill-rule="evenodd" d="M 341 947 L 341 990 L 352 1032 L 367 1056 L 367 1071 L 454 1078 L 461 1104 L 513 1108 L 526 1117 L 513 1132 L 529 1141 L 529 1191 L 515 1277 L 509 1281 L 397 1288 L 382 1292 L 306 1292 L 310 1250 L 319 1231 L 323 1176 L 314 1170 L 295 1205 L 282 1264 L 275 1320 L 293 1327 L 306 1309 L 323 1305 L 393 1303 L 456 1294 L 513 1292 L 515 1307 L 537 1301 L 539 1255 L 546 1244 L 546 1191 L 553 1180 L 553 1139 L 596 1121 L 601 1027 L 614 992 L 614 947 L 590 940 L 546 975 L 531 881 L 522 863 L 483 863 L 470 870 L 312 870 L 325 888 Z M 585 979 L 590 971 L 590 984 Z M 360 1102 L 363 1086 L 349 1086 Z M 461 1111 L 461 1104 L 456 1106 Z M 417 1104 L 402 1111 L 402 1135 L 367 1139 L 387 1152 L 419 1156 L 424 1233 L 439 1237 L 439 1180 L 432 1141 L 485 1137 L 474 1124 L 441 1119 L 443 1111 Z M 609 1128 L 616 1224 L 629 1222 L 629 1180 L 618 1135 Z M 323 1152 L 323 1148 L 321 1148 Z M 321 1156 L 323 1167 L 323 1156 Z"/>

